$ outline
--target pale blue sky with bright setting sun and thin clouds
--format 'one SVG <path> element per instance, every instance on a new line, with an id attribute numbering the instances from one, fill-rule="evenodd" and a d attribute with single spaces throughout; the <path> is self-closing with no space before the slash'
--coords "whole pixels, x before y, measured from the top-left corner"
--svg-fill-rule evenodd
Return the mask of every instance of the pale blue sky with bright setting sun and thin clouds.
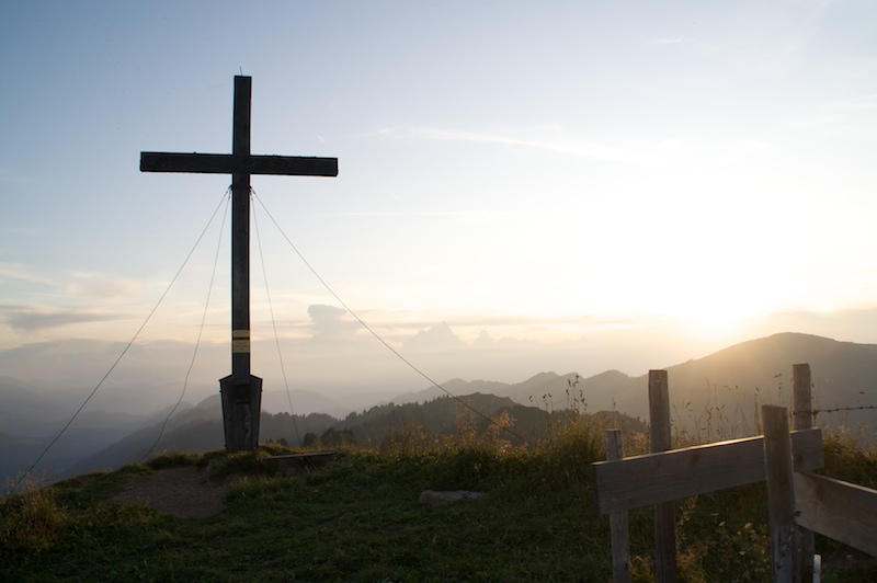
<path id="1" fill-rule="evenodd" d="M 0 376 L 93 387 L 134 338 L 110 395 L 215 391 L 230 176 L 138 164 L 230 152 L 241 73 L 253 153 L 339 159 L 252 179 L 266 386 L 877 343 L 875 30 L 864 0 L 0 0 Z"/>

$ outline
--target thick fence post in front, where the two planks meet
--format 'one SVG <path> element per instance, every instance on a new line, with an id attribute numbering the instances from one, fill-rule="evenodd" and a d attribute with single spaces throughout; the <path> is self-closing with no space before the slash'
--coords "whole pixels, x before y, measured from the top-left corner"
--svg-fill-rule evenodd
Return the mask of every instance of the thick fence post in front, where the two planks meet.
<path id="1" fill-rule="evenodd" d="M 791 441 L 785 407 L 762 407 L 764 424 L 764 467 L 767 480 L 767 506 L 771 513 L 771 550 L 774 581 L 800 582 L 795 526 L 795 487 L 791 470 Z"/>

